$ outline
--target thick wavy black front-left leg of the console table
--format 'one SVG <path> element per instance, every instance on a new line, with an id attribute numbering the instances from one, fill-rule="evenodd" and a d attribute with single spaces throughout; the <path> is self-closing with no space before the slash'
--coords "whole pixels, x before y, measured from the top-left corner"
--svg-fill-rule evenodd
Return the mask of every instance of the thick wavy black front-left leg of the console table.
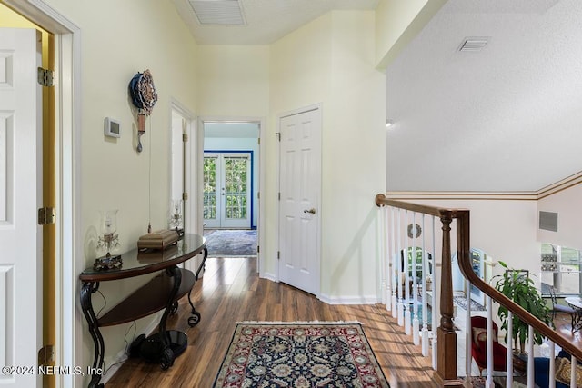
<path id="1" fill-rule="evenodd" d="M 93 303 L 91 302 L 91 294 L 96 293 L 99 289 L 99 282 L 84 282 L 81 288 L 81 310 L 85 315 L 85 320 L 89 325 L 89 333 L 95 344 L 95 355 L 93 358 L 93 371 L 95 374 L 91 375 L 91 382 L 89 388 L 103 388 L 104 384 L 100 384 L 101 373 L 104 365 L 105 343 L 103 336 L 99 331 L 99 323 L 93 310 Z M 100 373 L 101 372 L 101 373 Z"/>

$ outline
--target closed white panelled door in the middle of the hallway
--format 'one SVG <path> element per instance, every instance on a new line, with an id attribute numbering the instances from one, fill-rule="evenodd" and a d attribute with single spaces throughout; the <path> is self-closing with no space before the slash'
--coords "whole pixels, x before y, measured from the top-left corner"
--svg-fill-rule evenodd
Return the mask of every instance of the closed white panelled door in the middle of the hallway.
<path id="1" fill-rule="evenodd" d="M 279 280 L 319 293 L 321 111 L 279 121 Z"/>

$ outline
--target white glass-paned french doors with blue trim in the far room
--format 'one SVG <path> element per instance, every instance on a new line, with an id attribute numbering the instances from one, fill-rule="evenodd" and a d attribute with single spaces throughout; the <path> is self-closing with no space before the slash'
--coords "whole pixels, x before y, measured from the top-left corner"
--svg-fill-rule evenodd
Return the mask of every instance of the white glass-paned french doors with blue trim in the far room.
<path id="1" fill-rule="evenodd" d="M 206 228 L 250 228 L 250 193 L 250 153 L 204 153 Z"/>

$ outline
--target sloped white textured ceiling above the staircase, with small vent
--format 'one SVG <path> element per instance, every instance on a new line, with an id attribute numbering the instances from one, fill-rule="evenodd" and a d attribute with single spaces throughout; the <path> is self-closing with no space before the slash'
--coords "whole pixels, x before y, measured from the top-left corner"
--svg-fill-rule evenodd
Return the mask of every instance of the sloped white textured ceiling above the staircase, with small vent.
<path id="1" fill-rule="evenodd" d="M 536 192 L 582 171 L 582 1 L 449 0 L 386 71 L 390 191 Z M 461 53 L 467 36 L 487 37 Z"/>

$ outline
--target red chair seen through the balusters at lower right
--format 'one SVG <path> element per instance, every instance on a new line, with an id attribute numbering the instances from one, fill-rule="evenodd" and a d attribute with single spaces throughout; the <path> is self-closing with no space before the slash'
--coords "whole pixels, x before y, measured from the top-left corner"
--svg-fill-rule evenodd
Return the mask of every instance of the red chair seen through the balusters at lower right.
<path id="1" fill-rule="evenodd" d="M 479 368 L 479 375 L 487 368 L 487 318 L 471 317 L 471 355 Z M 493 370 L 507 370 L 507 348 L 497 341 L 497 324 L 493 323 Z"/>

